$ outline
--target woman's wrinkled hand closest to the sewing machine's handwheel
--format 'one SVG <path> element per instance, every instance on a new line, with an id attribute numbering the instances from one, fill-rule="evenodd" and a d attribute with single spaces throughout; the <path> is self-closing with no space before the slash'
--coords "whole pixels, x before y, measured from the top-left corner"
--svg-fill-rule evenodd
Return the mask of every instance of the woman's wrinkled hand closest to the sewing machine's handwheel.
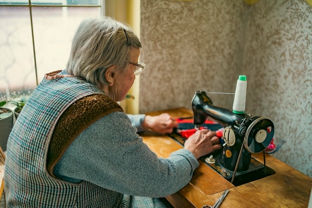
<path id="1" fill-rule="evenodd" d="M 196 159 L 220 148 L 216 132 L 209 129 L 197 130 L 184 143 L 184 149 L 193 153 Z"/>

